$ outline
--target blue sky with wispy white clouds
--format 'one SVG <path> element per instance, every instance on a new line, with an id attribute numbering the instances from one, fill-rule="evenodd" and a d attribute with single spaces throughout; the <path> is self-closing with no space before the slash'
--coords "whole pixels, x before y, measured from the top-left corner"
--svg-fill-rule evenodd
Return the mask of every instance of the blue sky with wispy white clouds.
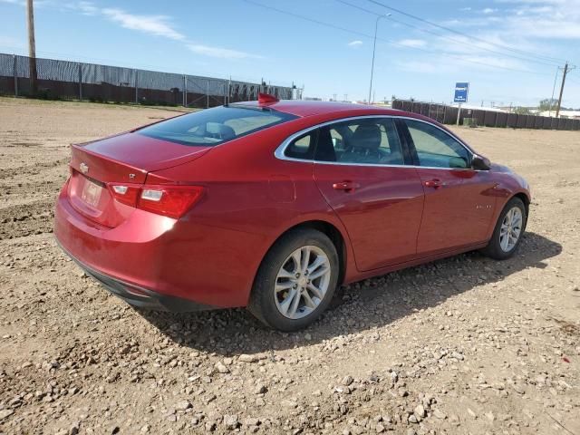
<path id="1" fill-rule="evenodd" d="M 0 0 L 0 53 L 27 53 L 24 3 Z M 450 102 L 469 82 L 470 104 L 536 105 L 568 61 L 563 106 L 580 108 L 580 0 L 35 0 L 34 18 L 38 57 L 348 101 L 368 98 L 378 19 L 373 101 Z"/>

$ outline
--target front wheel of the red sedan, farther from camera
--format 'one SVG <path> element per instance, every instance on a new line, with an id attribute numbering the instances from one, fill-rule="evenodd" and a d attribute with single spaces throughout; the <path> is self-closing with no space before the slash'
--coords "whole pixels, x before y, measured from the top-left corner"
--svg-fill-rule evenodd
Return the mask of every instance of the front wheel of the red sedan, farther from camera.
<path id="1" fill-rule="evenodd" d="M 514 210 L 514 211 L 512 211 Z M 517 210 L 519 212 L 520 219 L 517 220 Z M 507 218 L 508 213 L 513 212 L 514 215 L 511 215 L 514 218 L 514 222 L 516 225 L 514 227 L 508 226 L 507 228 L 516 229 L 518 227 L 519 233 L 517 234 L 517 240 L 515 244 L 513 244 L 513 238 L 510 238 L 509 242 L 506 244 L 506 235 L 505 230 L 502 231 L 502 226 L 504 226 L 509 218 Z M 505 260 L 510 256 L 513 256 L 516 251 L 517 247 L 519 247 L 519 243 L 524 235 L 524 229 L 526 228 L 527 223 L 527 215 L 526 215 L 526 206 L 524 206 L 523 201 L 520 198 L 511 198 L 507 201 L 506 206 L 501 210 L 501 213 L 498 217 L 498 222 L 496 223 L 496 227 L 493 231 L 493 236 L 489 240 L 489 244 L 487 247 L 484 247 L 481 252 L 485 256 L 489 256 L 496 260 Z M 504 227 L 505 228 L 505 227 Z M 511 231 L 511 229 L 508 229 Z M 513 234 L 513 233 L 510 233 Z M 502 243 L 503 241 L 503 243 Z"/>

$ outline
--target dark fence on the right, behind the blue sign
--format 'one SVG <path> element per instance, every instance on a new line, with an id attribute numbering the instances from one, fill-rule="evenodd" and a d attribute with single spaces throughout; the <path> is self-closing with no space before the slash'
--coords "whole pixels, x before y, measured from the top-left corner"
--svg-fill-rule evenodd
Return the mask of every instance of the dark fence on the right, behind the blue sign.
<path id="1" fill-rule="evenodd" d="M 446 104 L 407 100 L 393 100 L 392 108 L 419 113 L 439 121 L 441 124 L 455 124 L 459 111 L 457 107 Z M 486 111 L 485 109 L 461 109 L 459 124 L 513 129 L 580 130 L 580 120 L 571 118 L 523 115 L 504 111 Z"/>

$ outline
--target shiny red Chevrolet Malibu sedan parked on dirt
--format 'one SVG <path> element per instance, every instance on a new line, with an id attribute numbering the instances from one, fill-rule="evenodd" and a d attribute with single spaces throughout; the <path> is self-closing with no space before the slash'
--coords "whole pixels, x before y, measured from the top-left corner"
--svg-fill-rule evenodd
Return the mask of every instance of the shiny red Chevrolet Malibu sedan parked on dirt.
<path id="1" fill-rule="evenodd" d="M 404 111 L 261 95 L 73 146 L 63 250 L 130 304 L 247 306 L 292 331 L 338 285 L 517 250 L 517 174 Z"/>

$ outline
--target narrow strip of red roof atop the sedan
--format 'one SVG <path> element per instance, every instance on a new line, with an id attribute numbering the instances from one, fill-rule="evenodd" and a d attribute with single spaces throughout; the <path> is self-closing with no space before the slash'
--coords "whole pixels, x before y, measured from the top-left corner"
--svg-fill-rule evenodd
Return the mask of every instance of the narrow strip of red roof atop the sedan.
<path id="1" fill-rule="evenodd" d="M 336 112 L 352 112 L 359 114 L 401 115 L 405 112 L 396 109 L 387 109 L 369 104 L 355 104 L 352 102 L 316 102 L 304 100 L 280 100 L 279 102 L 235 102 L 232 106 L 267 107 L 276 111 L 284 111 L 295 116 L 306 117 L 313 115 L 331 114 Z"/>

